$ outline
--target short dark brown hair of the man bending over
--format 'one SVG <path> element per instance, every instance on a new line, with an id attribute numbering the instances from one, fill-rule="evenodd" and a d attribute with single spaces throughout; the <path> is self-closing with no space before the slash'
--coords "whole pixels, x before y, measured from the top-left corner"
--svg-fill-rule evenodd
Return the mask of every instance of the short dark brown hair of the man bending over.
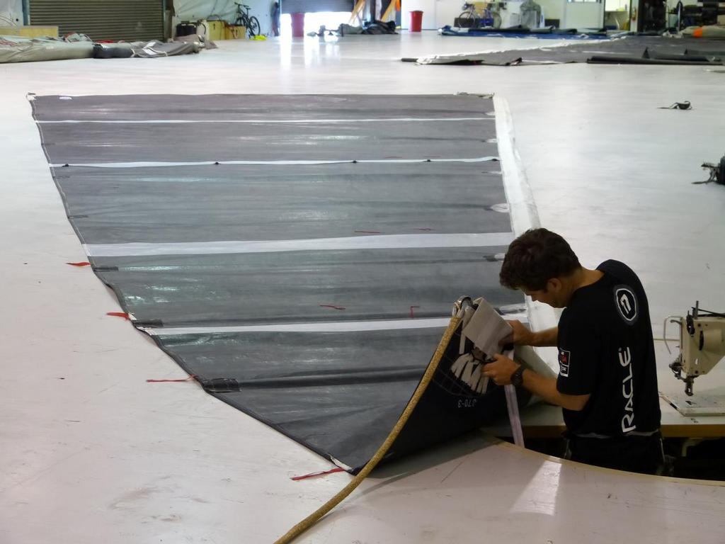
<path id="1" fill-rule="evenodd" d="M 580 266 L 565 239 L 546 228 L 531 228 L 511 242 L 499 277 L 504 287 L 540 291 L 550 279 Z"/>

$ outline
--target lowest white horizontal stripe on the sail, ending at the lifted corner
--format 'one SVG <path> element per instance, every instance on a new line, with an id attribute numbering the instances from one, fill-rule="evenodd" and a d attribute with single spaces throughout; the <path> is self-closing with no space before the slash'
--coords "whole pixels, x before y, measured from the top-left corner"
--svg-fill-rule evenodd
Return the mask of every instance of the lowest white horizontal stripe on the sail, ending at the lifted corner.
<path id="1" fill-rule="evenodd" d="M 358 332 L 394 331 L 402 329 L 444 329 L 450 318 L 395 319 L 390 321 L 328 321 L 322 323 L 285 323 L 282 325 L 169 327 L 162 329 L 139 327 L 156 337 L 181 334 L 225 334 L 231 332 Z"/>

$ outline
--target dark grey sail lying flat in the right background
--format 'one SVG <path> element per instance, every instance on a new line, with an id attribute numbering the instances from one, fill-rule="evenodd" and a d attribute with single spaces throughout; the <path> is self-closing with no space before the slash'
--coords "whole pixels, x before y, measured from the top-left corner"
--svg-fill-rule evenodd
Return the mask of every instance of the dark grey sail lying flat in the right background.
<path id="1" fill-rule="evenodd" d="M 542 46 L 537 49 L 431 55 L 413 60 L 420 64 L 473 64 L 519 66 L 568 62 L 611 62 L 617 64 L 721 65 L 725 60 L 723 41 L 663 36 L 627 36 L 614 40 Z"/>

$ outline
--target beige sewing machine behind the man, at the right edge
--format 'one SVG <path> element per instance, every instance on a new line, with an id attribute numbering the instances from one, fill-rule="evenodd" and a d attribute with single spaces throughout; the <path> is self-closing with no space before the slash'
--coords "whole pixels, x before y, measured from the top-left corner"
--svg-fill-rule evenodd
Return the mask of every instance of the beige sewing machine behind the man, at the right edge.
<path id="1" fill-rule="evenodd" d="M 679 323 L 680 355 L 670 368 L 675 377 L 685 383 L 684 392 L 691 397 L 695 378 L 708 374 L 725 357 L 725 314 L 701 310 L 698 301 L 692 314 L 687 312 L 687 317 L 671 319 L 673 317 L 667 319 L 670 323 Z"/>

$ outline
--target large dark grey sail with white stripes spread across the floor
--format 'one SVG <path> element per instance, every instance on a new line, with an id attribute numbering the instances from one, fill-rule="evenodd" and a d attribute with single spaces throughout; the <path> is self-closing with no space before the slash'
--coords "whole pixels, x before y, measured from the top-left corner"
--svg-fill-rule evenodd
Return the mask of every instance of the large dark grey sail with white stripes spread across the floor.
<path id="1" fill-rule="evenodd" d="M 136 326 L 197 379 L 239 386 L 216 396 L 347 466 L 392 428 L 452 301 L 521 308 L 498 285 L 513 234 L 490 98 L 38 96 L 33 110 L 70 221 Z M 430 408 L 430 432 L 396 451 L 490 423 L 505 412 L 492 400 L 468 419 Z"/>

